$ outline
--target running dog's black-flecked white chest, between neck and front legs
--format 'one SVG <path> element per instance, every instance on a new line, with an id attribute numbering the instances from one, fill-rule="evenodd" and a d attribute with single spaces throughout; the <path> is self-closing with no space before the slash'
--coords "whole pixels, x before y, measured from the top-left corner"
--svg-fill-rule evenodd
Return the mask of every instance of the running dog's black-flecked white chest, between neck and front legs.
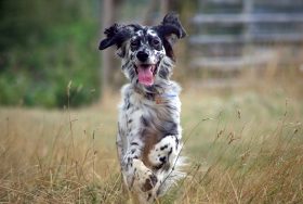
<path id="1" fill-rule="evenodd" d="M 145 149 L 148 149 L 147 145 L 152 148 L 166 135 L 177 135 L 180 101 L 177 95 L 159 95 L 150 100 L 139 93 L 124 91 L 119 115 L 123 150 L 132 142 L 143 142 Z"/>

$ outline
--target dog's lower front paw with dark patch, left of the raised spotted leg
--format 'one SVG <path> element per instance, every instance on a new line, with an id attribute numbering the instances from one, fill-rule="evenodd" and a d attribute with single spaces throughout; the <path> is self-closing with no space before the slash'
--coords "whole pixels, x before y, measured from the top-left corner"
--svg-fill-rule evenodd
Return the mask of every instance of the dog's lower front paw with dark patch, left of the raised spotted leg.
<path id="1" fill-rule="evenodd" d="M 158 182 L 157 176 L 147 168 L 142 161 L 133 160 L 134 171 L 134 188 L 140 189 L 143 192 L 153 190 Z"/>

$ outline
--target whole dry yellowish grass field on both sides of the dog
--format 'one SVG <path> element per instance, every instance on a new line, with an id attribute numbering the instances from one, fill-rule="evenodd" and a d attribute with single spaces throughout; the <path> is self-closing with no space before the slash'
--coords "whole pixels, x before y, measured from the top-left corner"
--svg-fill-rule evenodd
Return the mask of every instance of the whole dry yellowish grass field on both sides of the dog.
<path id="1" fill-rule="evenodd" d="M 301 90 L 302 82 L 280 81 L 185 88 L 188 176 L 158 202 L 302 203 Z M 81 110 L 0 107 L 0 203 L 126 203 L 115 149 L 118 101 Z"/>

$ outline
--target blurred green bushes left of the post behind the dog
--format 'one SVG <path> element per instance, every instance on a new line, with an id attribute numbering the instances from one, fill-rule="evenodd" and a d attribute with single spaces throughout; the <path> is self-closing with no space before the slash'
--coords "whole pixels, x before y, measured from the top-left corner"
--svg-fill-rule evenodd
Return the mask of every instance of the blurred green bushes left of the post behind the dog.
<path id="1" fill-rule="evenodd" d="M 0 2 L 0 104 L 63 107 L 70 80 L 71 106 L 98 98 L 97 2 Z"/>

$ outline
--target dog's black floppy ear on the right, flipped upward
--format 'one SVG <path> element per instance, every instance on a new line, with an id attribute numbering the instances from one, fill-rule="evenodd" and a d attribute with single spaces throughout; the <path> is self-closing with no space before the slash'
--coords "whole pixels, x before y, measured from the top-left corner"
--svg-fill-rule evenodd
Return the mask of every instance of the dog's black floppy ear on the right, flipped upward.
<path id="1" fill-rule="evenodd" d="M 162 23 L 155 26 L 154 29 L 161 36 L 167 55 L 174 60 L 172 47 L 177 39 L 186 36 L 186 31 L 181 25 L 179 15 L 176 13 L 167 14 Z"/>

